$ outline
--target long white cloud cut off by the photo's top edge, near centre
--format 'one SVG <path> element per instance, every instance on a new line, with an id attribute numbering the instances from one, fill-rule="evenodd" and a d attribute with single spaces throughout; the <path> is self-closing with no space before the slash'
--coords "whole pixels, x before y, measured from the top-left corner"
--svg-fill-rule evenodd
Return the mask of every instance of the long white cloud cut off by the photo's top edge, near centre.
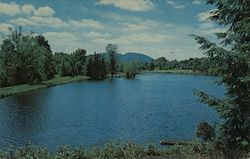
<path id="1" fill-rule="evenodd" d="M 113 5 L 118 8 L 137 12 L 149 11 L 155 8 L 151 0 L 100 0 L 97 4 Z"/>

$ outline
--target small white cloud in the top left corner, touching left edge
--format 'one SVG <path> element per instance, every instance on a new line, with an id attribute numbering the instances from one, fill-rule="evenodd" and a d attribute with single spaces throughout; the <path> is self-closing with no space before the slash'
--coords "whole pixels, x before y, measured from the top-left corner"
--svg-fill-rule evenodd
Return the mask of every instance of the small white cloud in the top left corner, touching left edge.
<path id="1" fill-rule="evenodd" d="M 2 3 L 0 2 L 0 13 L 7 15 L 16 15 L 20 13 L 20 7 L 16 3 Z"/>

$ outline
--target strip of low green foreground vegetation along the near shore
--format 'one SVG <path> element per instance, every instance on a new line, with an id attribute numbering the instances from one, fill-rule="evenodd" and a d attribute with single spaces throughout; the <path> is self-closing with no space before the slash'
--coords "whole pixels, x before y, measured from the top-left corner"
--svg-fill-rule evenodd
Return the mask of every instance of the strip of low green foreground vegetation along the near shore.
<path id="1" fill-rule="evenodd" d="M 206 148 L 202 150 L 201 145 L 171 146 L 157 148 L 154 145 L 141 146 L 133 143 L 114 142 L 100 147 L 72 148 L 60 146 L 56 151 L 49 151 L 27 145 L 19 148 L 0 150 L 0 158 L 43 158 L 43 159 L 212 159 L 223 158 L 220 153 Z"/>

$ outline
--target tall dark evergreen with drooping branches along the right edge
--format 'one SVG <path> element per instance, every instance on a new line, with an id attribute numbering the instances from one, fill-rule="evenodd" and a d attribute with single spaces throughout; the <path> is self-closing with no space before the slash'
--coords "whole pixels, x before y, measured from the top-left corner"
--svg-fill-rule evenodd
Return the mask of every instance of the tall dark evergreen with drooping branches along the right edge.
<path id="1" fill-rule="evenodd" d="M 237 151 L 250 147 L 250 3 L 249 0 L 207 0 L 216 6 L 210 20 L 227 26 L 226 32 L 217 33 L 220 47 L 204 37 L 194 35 L 205 54 L 223 61 L 221 84 L 226 86 L 226 97 L 218 99 L 197 91 L 200 100 L 216 109 L 223 118 L 219 139 L 224 143 L 228 158 Z M 239 156 L 238 156 L 239 157 Z"/>

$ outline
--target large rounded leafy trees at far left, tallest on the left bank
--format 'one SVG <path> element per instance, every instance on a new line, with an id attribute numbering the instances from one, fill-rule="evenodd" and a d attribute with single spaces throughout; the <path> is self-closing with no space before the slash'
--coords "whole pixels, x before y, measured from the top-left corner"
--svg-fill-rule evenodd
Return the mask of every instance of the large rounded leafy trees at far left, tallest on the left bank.
<path id="1" fill-rule="evenodd" d="M 0 86 L 51 79 L 56 71 L 48 41 L 41 35 L 11 30 L 0 46 Z"/>

